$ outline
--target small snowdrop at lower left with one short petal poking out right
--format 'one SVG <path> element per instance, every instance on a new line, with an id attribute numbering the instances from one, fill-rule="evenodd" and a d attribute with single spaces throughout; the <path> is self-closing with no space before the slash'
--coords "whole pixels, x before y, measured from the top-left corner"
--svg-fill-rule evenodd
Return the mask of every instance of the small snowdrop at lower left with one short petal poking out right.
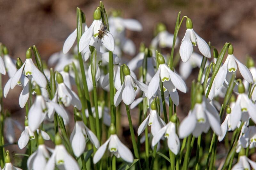
<path id="1" fill-rule="evenodd" d="M 42 137 L 44 140 L 50 140 L 50 136 L 44 132 L 43 130 L 36 129 L 36 132 L 39 134 L 41 133 Z M 27 144 L 28 140 L 35 139 L 34 132 L 29 128 L 28 126 L 28 118 L 25 118 L 25 129 L 21 133 L 19 141 L 18 141 L 18 146 L 20 149 L 23 149 Z"/>

